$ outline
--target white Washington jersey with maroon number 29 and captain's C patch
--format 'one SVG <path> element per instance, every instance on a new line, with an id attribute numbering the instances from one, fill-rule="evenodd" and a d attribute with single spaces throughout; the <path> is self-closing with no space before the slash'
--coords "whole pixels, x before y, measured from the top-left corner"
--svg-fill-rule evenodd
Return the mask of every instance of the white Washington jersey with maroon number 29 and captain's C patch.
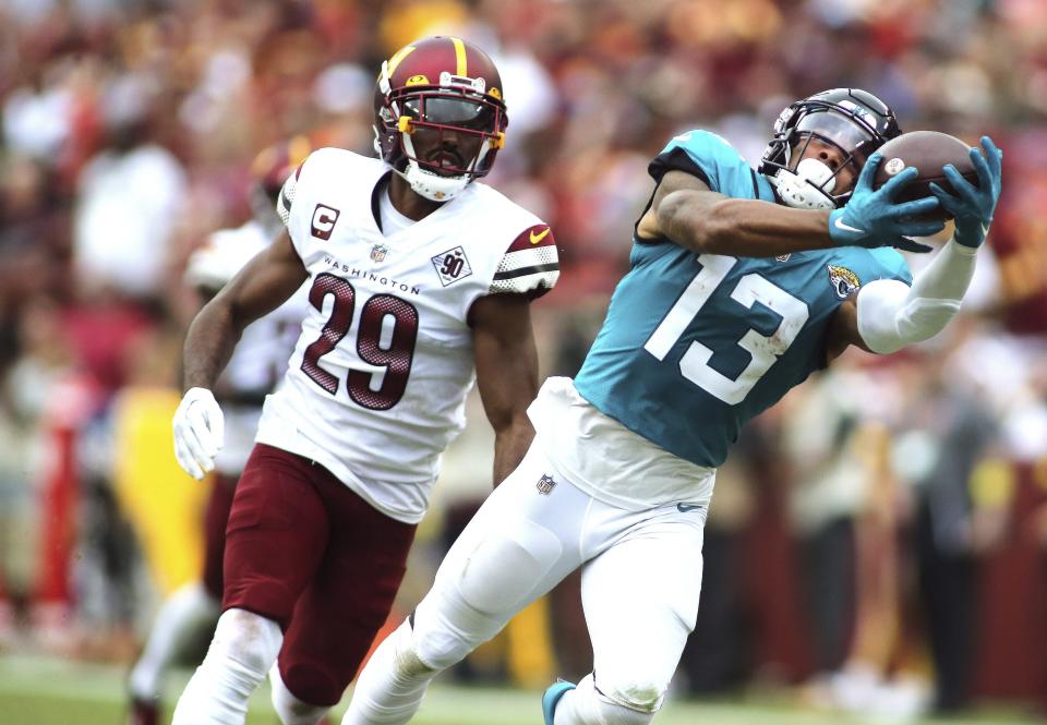
<path id="1" fill-rule="evenodd" d="M 556 282 L 549 227 L 472 183 L 384 233 L 392 168 L 323 148 L 278 210 L 309 270 L 310 309 L 257 440 L 310 458 L 375 508 L 422 518 L 440 455 L 465 426 L 474 378 L 469 310 L 481 297 L 538 297 Z"/>

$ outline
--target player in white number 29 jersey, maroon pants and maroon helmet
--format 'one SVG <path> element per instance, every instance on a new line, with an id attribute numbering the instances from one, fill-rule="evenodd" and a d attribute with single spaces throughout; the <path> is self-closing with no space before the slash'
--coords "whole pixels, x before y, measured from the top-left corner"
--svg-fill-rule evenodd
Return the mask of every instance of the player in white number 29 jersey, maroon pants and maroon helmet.
<path id="1" fill-rule="evenodd" d="M 503 98 L 469 43 L 399 50 L 375 93 L 381 158 L 314 152 L 284 186 L 287 233 L 193 322 L 174 445 L 201 478 L 222 437 L 210 388 L 240 331 L 310 286 L 229 515 L 224 613 L 177 725 L 243 723 L 274 662 L 285 725 L 338 702 L 389 613 L 473 379 L 494 481 L 522 459 L 538 388 L 529 303 L 558 263 L 549 226 L 477 183 L 504 143 Z"/>

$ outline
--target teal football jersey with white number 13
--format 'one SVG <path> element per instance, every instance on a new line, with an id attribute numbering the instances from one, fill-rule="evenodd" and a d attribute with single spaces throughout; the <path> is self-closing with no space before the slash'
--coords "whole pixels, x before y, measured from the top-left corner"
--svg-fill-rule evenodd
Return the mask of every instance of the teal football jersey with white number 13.
<path id="1" fill-rule="evenodd" d="M 673 138 L 651 162 L 736 198 L 774 203 L 767 178 L 715 134 Z M 837 307 L 874 279 L 912 282 L 893 249 L 753 258 L 634 235 L 630 269 L 575 379 L 601 412 L 670 452 L 720 466 L 754 415 L 826 364 Z"/>

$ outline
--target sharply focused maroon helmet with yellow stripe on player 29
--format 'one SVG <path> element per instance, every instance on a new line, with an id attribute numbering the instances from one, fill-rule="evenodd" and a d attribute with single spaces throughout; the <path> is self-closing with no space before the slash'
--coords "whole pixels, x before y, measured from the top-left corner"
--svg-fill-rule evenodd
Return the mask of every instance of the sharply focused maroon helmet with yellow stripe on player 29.
<path id="1" fill-rule="evenodd" d="M 374 96 L 375 150 L 411 188 L 445 202 L 485 176 L 505 143 L 502 78 L 491 58 L 460 38 L 435 36 L 405 46 L 382 63 Z M 413 135 L 434 134 L 421 157 Z M 469 158 L 445 152 L 445 138 L 472 140 Z"/>

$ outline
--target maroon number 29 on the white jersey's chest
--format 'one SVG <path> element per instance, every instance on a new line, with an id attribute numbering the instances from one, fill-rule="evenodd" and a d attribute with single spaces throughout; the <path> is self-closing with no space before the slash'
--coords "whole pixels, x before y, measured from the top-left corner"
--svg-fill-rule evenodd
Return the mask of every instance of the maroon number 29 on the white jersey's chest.
<path id="1" fill-rule="evenodd" d="M 309 290 L 310 304 L 323 312 L 327 295 L 334 298 L 330 316 L 320 337 L 305 348 L 302 372 L 330 395 L 337 395 L 339 380 L 320 366 L 320 359 L 334 350 L 349 331 L 357 291 L 341 277 L 326 273 L 316 275 Z M 392 328 L 386 325 L 387 318 L 393 322 Z M 375 294 L 368 300 L 360 312 L 357 354 L 365 363 L 385 367 L 385 374 L 382 386 L 372 390 L 374 373 L 350 370 L 347 384 L 352 401 L 371 410 L 388 410 L 398 403 L 407 389 L 417 338 L 418 310 L 414 305 L 392 294 Z"/>

